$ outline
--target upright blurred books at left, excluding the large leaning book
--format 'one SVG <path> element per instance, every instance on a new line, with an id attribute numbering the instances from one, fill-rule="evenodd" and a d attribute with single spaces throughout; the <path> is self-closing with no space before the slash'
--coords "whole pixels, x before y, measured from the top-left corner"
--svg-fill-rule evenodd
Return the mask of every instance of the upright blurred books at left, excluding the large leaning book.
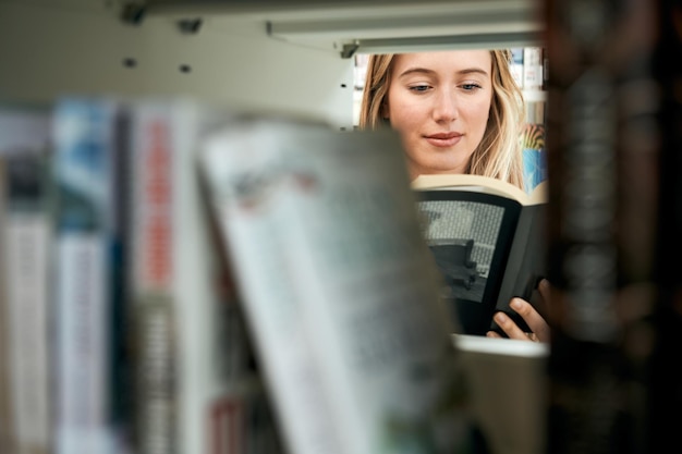
<path id="1" fill-rule="evenodd" d="M 198 116 L 0 111 L 0 452 L 282 452 L 200 216 Z"/>

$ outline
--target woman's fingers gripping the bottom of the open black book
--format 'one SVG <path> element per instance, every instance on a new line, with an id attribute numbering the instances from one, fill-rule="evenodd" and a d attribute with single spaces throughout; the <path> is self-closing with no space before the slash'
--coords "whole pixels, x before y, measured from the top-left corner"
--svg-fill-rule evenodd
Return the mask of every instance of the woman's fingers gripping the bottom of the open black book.
<path id="1" fill-rule="evenodd" d="M 550 300 L 550 285 L 549 281 L 543 279 L 538 284 L 539 298 L 541 304 L 547 306 Z M 526 322 L 531 332 L 525 332 L 519 326 L 509 318 L 504 312 L 497 312 L 495 315 L 495 321 L 502 331 L 509 336 L 509 339 L 516 339 L 532 342 L 549 342 L 550 329 L 545 318 L 537 311 L 537 309 L 522 298 L 512 298 L 510 307 L 519 314 Z M 502 338 L 495 331 L 488 331 L 486 334 L 488 338 Z"/>

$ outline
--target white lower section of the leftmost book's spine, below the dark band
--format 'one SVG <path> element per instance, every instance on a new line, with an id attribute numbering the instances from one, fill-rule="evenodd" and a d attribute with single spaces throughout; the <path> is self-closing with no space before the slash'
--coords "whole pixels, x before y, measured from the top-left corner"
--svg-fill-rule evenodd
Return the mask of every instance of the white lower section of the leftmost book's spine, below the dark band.
<path id="1" fill-rule="evenodd" d="M 12 400 L 20 451 L 47 452 L 50 439 L 48 345 L 49 220 L 46 214 L 8 213 L 8 331 Z"/>

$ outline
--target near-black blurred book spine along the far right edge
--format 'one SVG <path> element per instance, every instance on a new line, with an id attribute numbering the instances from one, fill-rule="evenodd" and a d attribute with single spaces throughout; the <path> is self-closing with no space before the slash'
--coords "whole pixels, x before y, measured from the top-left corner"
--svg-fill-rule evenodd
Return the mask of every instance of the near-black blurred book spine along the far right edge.
<path id="1" fill-rule="evenodd" d="M 678 265 L 682 257 L 682 4 L 670 0 L 654 3 L 658 8 L 654 74 L 660 91 L 660 209 L 655 262 L 659 300 L 647 386 L 647 440 L 649 452 L 665 452 L 677 442 L 682 427 L 682 373 L 674 366 L 682 352 L 682 275 Z"/>

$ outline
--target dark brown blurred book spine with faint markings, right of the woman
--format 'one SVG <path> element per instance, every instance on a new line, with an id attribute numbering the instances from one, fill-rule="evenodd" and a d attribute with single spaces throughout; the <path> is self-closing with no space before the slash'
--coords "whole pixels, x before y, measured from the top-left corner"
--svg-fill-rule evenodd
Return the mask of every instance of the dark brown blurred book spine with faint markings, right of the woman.
<path id="1" fill-rule="evenodd" d="M 658 84 L 647 1 L 546 0 L 547 452 L 644 453 L 655 344 Z"/>

